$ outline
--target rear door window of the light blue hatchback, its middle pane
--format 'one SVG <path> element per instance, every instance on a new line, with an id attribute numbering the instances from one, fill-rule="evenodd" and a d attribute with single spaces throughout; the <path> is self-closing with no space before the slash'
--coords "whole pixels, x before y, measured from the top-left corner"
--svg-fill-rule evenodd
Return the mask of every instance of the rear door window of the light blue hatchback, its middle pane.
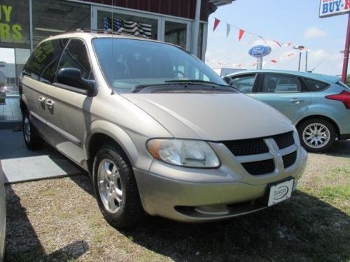
<path id="1" fill-rule="evenodd" d="M 265 74 L 262 81 L 262 93 L 288 93 L 300 92 L 301 85 L 293 75 Z"/>

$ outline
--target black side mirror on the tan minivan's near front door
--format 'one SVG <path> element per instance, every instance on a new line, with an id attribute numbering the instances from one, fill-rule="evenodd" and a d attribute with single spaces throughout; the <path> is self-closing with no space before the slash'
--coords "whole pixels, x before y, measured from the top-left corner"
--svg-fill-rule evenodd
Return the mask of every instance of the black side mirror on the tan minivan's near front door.
<path id="1" fill-rule="evenodd" d="M 58 71 L 57 82 L 71 87 L 77 87 L 92 92 L 95 87 L 94 80 L 87 80 L 81 77 L 78 68 L 66 67 Z"/>

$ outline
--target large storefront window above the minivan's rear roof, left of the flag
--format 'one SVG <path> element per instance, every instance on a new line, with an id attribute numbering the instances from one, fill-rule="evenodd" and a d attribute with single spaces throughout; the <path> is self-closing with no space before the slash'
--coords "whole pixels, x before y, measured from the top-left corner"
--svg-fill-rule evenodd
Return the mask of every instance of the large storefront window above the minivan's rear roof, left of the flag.
<path id="1" fill-rule="evenodd" d="M 90 28 L 90 6 L 69 1 L 33 0 L 34 47 L 48 36 Z"/>

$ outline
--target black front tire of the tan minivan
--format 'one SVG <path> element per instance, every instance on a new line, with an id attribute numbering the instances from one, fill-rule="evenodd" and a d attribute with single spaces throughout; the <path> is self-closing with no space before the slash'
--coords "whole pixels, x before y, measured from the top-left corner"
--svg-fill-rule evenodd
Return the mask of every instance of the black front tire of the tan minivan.
<path id="1" fill-rule="evenodd" d="M 113 181 L 114 184 L 109 184 L 109 189 L 106 189 L 106 191 L 101 190 L 102 193 L 100 193 L 99 187 L 105 187 L 104 185 L 108 184 L 106 180 L 101 179 L 102 175 L 99 177 L 99 172 L 102 172 L 101 170 L 104 165 L 108 166 L 111 173 L 113 173 L 113 168 L 116 167 L 116 176 L 118 175 L 118 178 L 109 180 Z M 106 221 L 109 222 L 111 226 L 115 228 L 132 226 L 142 217 L 144 217 L 145 213 L 141 205 L 139 190 L 137 189 L 137 183 L 132 171 L 132 166 L 122 150 L 113 145 L 104 145 L 100 147 L 99 150 L 97 150 L 96 156 L 94 157 L 92 178 L 94 184 L 94 194 L 96 195 L 99 209 L 104 215 Z M 108 196 L 111 196 L 114 189 L 116 189 L 114 190 L 114 194 L 116 194 L 118 187 L 120 187 L 123 194 L 121 194 L 120 203 L 118 203 L 117 196 L 111 197 L 113 198 L 113 205 L 116 205 L 117 208 L 116 211 L 111 212 L 113 208 L 111 208 L 110 201 L 107 201 L 108 203 L 106 203 L 106 199 L 102 195 L 108 194 Z M 109 192 L 107 193 L 107 191 Z M 102 198 L 104 198 L 104 200 L 102 200 Z"/>

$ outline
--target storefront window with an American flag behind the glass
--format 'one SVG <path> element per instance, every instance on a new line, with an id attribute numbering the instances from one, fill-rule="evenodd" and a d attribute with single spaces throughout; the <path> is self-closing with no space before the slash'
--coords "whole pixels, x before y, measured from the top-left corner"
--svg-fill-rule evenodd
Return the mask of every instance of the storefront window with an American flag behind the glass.
<path id="1" fill-rule="evenodd" d="M 135 15 L 99 10 L 97 13 L 97 29 L 113 29 L 113 31 L 123 31 L 124 33 L 158 39 L 158 20 Z"/>

